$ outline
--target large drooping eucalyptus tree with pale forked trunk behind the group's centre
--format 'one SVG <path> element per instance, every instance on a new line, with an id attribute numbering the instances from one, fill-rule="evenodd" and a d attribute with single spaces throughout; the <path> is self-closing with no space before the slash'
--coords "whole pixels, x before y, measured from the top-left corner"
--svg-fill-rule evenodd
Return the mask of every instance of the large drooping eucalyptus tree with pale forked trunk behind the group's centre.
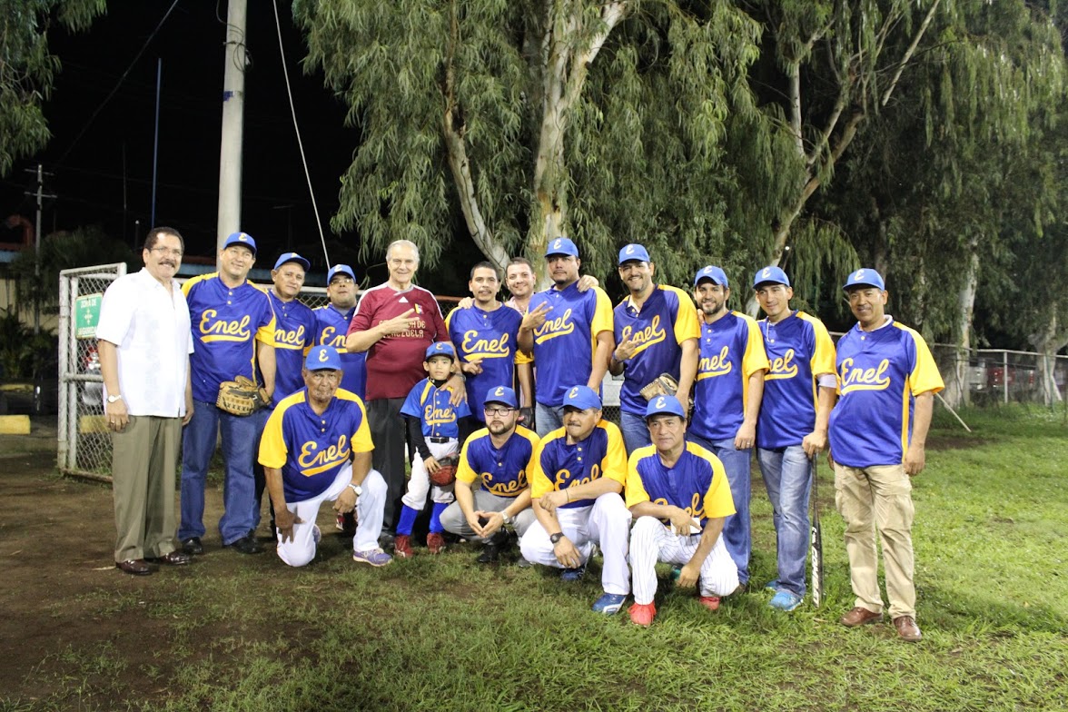
<path id="1" fill-rule="evenodd" d="M 800 175 L 748 72 L 760 27 L 682 0 L 297 0 L 310 68 L 361 143 L 339 230 L 434 265 L 457 213 L 498 266 L 575 237 L 586 268 L 646 243 L 661 274 L 749 270 Z M 535 260 L 539 264 L 540 260 Z"/>

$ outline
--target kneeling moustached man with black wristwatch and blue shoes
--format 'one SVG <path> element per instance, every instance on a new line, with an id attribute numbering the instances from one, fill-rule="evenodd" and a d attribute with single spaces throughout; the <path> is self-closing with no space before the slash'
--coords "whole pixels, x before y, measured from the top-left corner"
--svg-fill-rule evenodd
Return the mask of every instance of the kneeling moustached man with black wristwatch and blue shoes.
<path id="1" fill-rule="evenodd" d="M 547 433 L 534 455 L 531 497 L 537 521 L 519 549 L 531 564 L 563 569 L 578 581 L 597 544 L 604 553 L 596 613 L 618 613 L 630 594 L 630 512 L 619 493 L 627 476 L 623 434 L 601 418 L 600 398 L 585 385 L 564 397 L 564 427 Z"/>

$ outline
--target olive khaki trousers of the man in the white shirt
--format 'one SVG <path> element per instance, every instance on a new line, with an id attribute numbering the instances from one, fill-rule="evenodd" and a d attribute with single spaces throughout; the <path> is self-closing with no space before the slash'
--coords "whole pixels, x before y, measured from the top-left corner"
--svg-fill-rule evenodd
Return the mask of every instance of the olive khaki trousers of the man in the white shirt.
<path id="1" fill-rule="evenodd" d="M 122 432 L 111 433 L 116 563 L 175 550 L 174 480 L 180 444 L 180 417 L 131 415 Z"/>

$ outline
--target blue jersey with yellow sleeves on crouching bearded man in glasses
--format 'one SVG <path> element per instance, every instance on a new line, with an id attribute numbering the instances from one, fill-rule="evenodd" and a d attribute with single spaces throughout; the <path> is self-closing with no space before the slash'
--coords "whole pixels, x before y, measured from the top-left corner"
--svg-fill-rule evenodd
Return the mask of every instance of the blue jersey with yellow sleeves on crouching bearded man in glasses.
<path id="1" fill-rule="evenodd" d="M 469 485 L 480 479 L 490 494 L 517 497 L 529 485 L 527 473 L 533 469 L 537 444 L 537 433 L 527 428 L 516 428 L 501 447 L 493 447 L 488 429 L 475 430 L 460 449 L 456 479 Z"/>

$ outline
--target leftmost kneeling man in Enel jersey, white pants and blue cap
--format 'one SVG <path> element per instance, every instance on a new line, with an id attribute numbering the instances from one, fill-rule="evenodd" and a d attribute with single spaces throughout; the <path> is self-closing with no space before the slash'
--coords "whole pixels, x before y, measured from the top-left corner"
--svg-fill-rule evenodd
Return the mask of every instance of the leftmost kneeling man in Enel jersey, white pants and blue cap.
<path id="1" fill-rule="evenodd" d="M 386 480 L 371 469 L 374 445 L 363 401 L 337 387 L 341 357 L 332 346 L 312 347 L 302 376 L 304 387 L 278 404 L 260 441 L 278 555 L 289 566 L 315 558 L 323 536 L 315 518 L 324 502 L 334 502 L 339 513 L 356 509 L 352 558 L 384 566 L 393 560 L 378 548 Z"/>

